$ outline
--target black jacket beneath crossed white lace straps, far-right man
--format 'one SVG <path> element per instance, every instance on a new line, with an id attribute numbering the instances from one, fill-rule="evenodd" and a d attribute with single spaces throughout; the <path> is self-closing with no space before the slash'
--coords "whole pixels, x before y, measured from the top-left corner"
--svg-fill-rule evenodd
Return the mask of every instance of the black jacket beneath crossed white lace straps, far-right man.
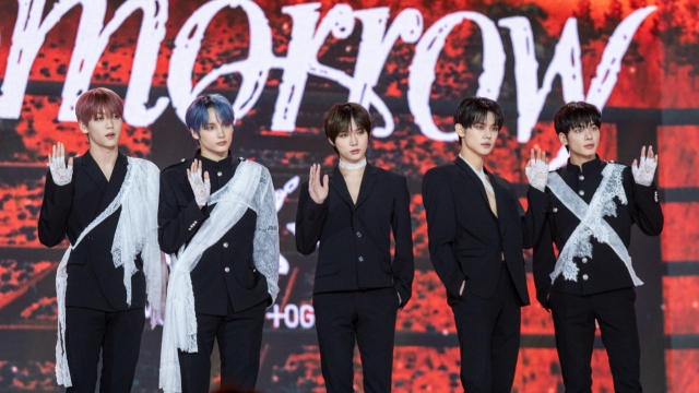
<path id="1" fill-rule="evenodd" d="M 580 168 L 569 164 L 556 169 L 562 180 L 590 204 L 592 196 L 602 182 L 602 170 L 607 163 L 596 157 L 588 162 Z M 627 204 L 621 204 L 618 199 L 614 199 L 616 204 L 616 216 L 605 216 L 609 226 L 617 233 L 624 245 L 628 248 L 631 242 L 631 226 L 633 224 L 645 235 L 657 236 L 663 230 L 664 217 L 660 201 L 657 200 L 657 188 L 655 183 L 651 186 L 637 184 L 630 167 L 625 167 L 621 172 L 624 192 Z M 550 193 L 550 189 L 546 188 Z M 552 284 L 550 273 L 556 265 L 556 253 L 553 245 L 558 250 L 568 242 L 570 235 L 580 224 L 580 219 L 570 212 L 561 201 L 553 193 L 546 209 L 546 225 L 544 225 L 540 241 L 534 247 L 534 281 L 536 283 L 536 298 L 548 308 L 548 295 L 550 290 L 564 291 L 574 295 L 599 294 L 607 290 L 632 288 L 633 281 L 626 264 L 606 243 L 601 243 L 592 237 L 592 258 L 573 258 L 580 272 L 577 281 L 565 279 L 559 275 Z M 587 276 L 587 279 L 584 278 Z"/>

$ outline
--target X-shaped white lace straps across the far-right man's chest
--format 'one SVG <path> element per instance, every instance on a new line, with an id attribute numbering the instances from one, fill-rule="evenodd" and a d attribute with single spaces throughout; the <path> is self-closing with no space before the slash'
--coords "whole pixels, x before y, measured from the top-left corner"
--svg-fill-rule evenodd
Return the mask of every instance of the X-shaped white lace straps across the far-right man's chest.
<path id="1" fill-rule="evenodd" d="M 624 261 L 633 285 L 643 285 L 643 282 L 636 275 L 631 265 L 631 255 L 619 238 L 619 235 L 604 219 L 604 216 L 616 216 L 616 203 L 614 198 L 618 198 L 621 204 L 627 204 L 626 192 L 624 191 L 623 174 L 624 167 L 617 164 L 607 164 L 602 170 L 602 182 L 592 196 L 590 205 L 585 203 L 561 177 L 553 171 L 548 174 L 548 188 L 552 193 L 579 219 L 580 224 L 570 235 L 570 238 L 560 251 L 554 271 L 550 273 L 552 283 L 561 273 L 565 279 L 578 281 L 578 265 L 573 258 L 592 258 L 592 243 L 590 238 L 608 245 L 612 250 Z"/>

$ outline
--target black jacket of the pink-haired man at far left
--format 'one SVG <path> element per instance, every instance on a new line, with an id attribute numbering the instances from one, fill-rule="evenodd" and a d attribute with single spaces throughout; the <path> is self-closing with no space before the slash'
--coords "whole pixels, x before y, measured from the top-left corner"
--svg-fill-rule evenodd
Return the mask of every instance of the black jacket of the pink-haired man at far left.
<path id="1" fill-rule="evenodd" d="M 44 246 L 59 245 L 66 236 L 71 245 L 117 196 L 127 175 L 128 158 L 119 154 L 109 181 L 95 159 L 86 152 L 73 160 L 70 183 L 56 186 L 49 170 L 42 213 L 39 214 L 39 241 Z M 139 255 L 138 273 L 131 276 L 131 307 L 127 305 L 123 287 L 123 266 L 115 267 L 111 243 L 117 230 L 121 207 L 97 225 L 68 260 L 66 306 L 103 311 L 123 311 L 145 306 L 145 276 Z"/>

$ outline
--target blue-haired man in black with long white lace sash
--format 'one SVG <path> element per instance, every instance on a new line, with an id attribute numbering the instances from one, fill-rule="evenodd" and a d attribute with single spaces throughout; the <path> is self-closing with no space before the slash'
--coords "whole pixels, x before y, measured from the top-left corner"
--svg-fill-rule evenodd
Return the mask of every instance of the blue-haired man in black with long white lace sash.
<path id="1" fill-rule="evenodd" d="M 171 254 L 165 392 L 209 392 L 214 340 L 222 388 L 257 382 L 264 309 L 279 293 L 279 229 L 269 170 L 230 155 L 234 121 L 222 95 L 197 97 L 186 122 L 200 148 L 161 175 L 158 240 Z"/>

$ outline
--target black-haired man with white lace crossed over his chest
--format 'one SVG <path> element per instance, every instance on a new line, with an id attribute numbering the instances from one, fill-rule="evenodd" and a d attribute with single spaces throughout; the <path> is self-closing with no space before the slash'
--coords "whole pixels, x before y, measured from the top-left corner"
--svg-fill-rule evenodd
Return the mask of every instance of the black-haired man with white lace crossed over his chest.
<path id="1" fill-rule="evenodd" d="M 556 112 L 556 133 L 570 158 L 548 174 L 546 225 L 534 247 L 536 298 L 554 318 L 566 392 L 591 392 L 595 321 L 615 392 L 641 392 L 633 287 L 643 283 L 628 246 L 633 224 L 649 236 L 663 228 L 653 183 L 657 156 L 643 146 L 631 167 L 601 160 L 601 118 L 587 103 Z"/>

